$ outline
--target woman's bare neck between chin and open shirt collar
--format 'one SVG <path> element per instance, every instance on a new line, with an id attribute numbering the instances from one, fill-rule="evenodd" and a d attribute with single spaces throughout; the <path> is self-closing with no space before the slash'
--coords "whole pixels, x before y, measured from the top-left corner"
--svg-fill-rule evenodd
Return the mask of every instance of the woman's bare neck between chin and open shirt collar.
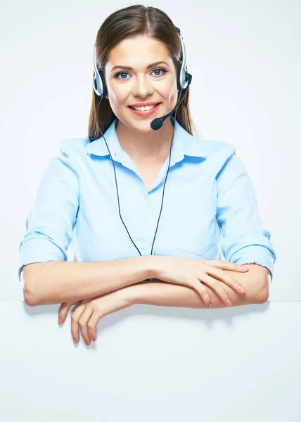
<path id="1" fill-rule="evenodd" d="M 126 126 L 117 120 L 116 133 L 123 151 L 134 161 L 165 161 L 169 155 L 174 126 L 170 117 L 158 130 L 149 127 L 147 132 Z"/>

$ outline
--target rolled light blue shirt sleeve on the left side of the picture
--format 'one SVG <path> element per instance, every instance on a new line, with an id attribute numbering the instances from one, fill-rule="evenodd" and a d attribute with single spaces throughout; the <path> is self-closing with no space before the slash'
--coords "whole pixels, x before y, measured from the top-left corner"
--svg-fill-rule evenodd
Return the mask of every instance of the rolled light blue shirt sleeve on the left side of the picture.
<path id="1" fill-rule="evenodd" d="M 70 153 L 61 146 L 41 177 L 34 206 L 26 218 L 26 234 L 19 245 L 19 281 L 26 264 L 68 260 L 78 207 L 77 172 Z"/>

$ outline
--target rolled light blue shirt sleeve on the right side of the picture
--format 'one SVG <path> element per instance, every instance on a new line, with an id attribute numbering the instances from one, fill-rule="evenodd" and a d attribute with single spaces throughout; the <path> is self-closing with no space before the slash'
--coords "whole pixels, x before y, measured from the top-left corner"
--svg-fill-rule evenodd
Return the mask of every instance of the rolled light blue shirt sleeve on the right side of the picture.
<path id="1" fill-rule="evenodd" d="M 225 260 L 267 267 L 272 281 L 276 253 L 271 233 L 262 226 L 255 190 L 235 148 L 216 180 L 217 222 L 222 229 L 221 248 Z"/>

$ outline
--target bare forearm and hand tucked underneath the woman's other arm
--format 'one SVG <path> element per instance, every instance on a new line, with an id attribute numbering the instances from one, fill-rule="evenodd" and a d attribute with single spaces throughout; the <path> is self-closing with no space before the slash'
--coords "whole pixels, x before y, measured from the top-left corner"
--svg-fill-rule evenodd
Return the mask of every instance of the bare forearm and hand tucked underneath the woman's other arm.
<path id="1" fill-rule="evenodd" d="M 267 301 L 269 270 L 257 264 L 247 265 L 249 267 L 248 272 L 239 273 L 235 271 L 237 274 L 236 280 L 241 283 L 245 293 L 236 293 L 223 283 L 223 287 L 227 291 L 233 306 Z M 233 276 L 233 271 L 229 271 L 229 273 Z M 207 288 L 209 287 L 207 286 Z M 225 307 L 224 301 L 219 298 L 212 288 L 209 289 L 212 307 Z M 88 299 L 88 305 L 87 300 L 84 300 L 79 307 L 75 307 L 72 311 L 71 331 L 75 343 L 79 342 L 79 326 L 86 344 L 90 345 L 91 340 L 96 341 L 96 325 L 102 316 L 131 305 L 141 303 L 169 307 L 205 307 L 200 295 L 193 288 L 162 281 L 152 283 L 139 282 L 110 293 L 101 295 L 95 300 L 90 301 Z M 72 305 L 72 302 L 61 305 L 58 314 L 59 324 L 63 324 Z"/>

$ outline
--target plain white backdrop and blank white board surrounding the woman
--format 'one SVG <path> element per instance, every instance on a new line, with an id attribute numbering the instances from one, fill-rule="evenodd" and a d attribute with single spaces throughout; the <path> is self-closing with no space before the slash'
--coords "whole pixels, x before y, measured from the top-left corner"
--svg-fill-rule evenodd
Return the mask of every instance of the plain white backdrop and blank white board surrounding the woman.
<path id="1" fill-rule="evenodd" d="M 131 4 L 1 4 L 4 420 L 298 421 L 297 0 L 144 4 L 165 11 L 184 37 L 198 137 L 234 143 L 250 174 L 277 256 L 269 302 L 211 311 L 137 305 L 100 321 L 98 340 L 90 347 L 82 338 L 73 345 L 70 315 L 58 327 L 59 305 L 31 308 L 23 302 L 18 246 L 41 174 L 62 139 L 87 136 L 96 33 L 110 13 Z"/>

